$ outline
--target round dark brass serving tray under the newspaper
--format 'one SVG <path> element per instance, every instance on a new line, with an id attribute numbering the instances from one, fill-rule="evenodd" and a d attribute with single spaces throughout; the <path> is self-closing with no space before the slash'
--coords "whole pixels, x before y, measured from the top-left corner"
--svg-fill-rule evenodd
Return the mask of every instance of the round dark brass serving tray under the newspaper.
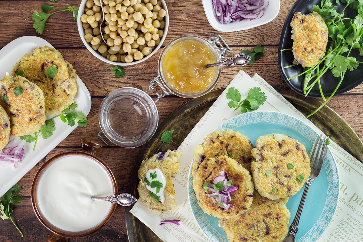
<path id="1" fill-rule="evenodd" d="M 314 98 L 302 98 L 293 90 L 280 86 L 273 86 L 281 93 L 287 101 L 293 104 L 305 116 L 321 105 L 321 102 Z M 225 88 L 212 90 L 208 94 L 189 100 L 172 112 L 159 125 L 154 136 L 143 145 L 134 167 L 132 168 L 127 191 L 139 197 L 137 192 L 138 169 L 141 161 L 155 153 L 176 149 L 189 134 L 195 124 L 203 117 L 205 112 L 212 106 L 213 102 L 221 95 Z M 363 163 L 363 144 L 351 127 L 331 108 L 325 106 L 316 114 L 311 116 L 313 122 L 321 131 L 330 137 L 335 143 L 351 153 Z M 166 130 L 174 130 L 173 141 L 165 144 L 160 141 L 162 133 Z M 146 225 L 140 222 L 130 213 L 131 207 L 126 207 L 126 228 L 130 242 L 161 242 L 162 240 L 152 232 Z"/>

